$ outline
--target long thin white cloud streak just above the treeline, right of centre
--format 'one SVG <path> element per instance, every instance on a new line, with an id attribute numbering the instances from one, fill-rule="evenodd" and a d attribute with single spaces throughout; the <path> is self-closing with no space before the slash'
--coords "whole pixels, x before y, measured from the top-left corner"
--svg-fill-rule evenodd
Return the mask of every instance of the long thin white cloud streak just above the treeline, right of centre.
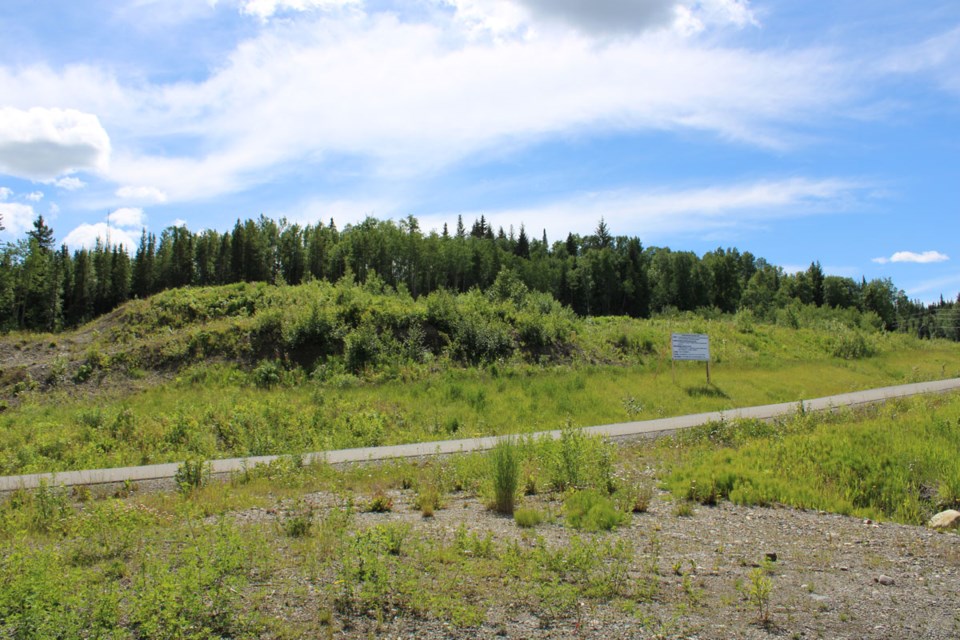
<path id="1" fill-rule="evenodd" d="M 607 191 L 523 209 L 463 215 L 465 221 L 472 221 L 483 213 L 494 227 L 522 222 L 535 232 L 546 229 L 552 238 L 568 232 L 592 233 L 603 217 L 615 235 L 639 235 L 651 242 L 676 234 L 702 235 L 763 226 L 779 218 L 847 211 L 856 206 L 865 188 L 852 181 L 795 178 L 674 191 Z M 421 222 L 431 228 L 451 218 L 455 220 L 456 213 L 427 216 Z"/>

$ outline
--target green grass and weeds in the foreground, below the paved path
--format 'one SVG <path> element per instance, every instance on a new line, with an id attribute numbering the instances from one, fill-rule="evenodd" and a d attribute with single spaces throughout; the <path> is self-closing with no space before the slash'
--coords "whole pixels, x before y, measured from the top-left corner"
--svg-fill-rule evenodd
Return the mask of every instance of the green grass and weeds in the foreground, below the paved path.
<path id="1" fill-rule="evenodd" d="M 537 500 L 566 496 L 568 519 L 542 528 L 597 531 L 565 543 L 547 542 L 555 530 L 541 537 L 530 528 L 496 538 L 484 528 L 494 516 L 482 511 L 453 532 L 358 512 L 366 501 L 355 497 L 377 491 L 406 492 L 404 504 L 428 486 L 479 498 L 494 475 L 490 454 L 339 470 L 284 458 L 226 484 L 120 499 L 16 492 L 0 502 L 0 636 L 303 637 L 394 617 L 469 629 L 502 602 L 573 630 L 584 608 L 642 603 L 665 580 L 625 542 L 649 543 L 659 557 L 654 516 L 625 513 L 632 500 L 614 507 L 651 468 L 690 513 L 687 498 L 731 499 L 915 523 L 960 503 L 956 394 L 714 424 L 625 447 L 565 435 L 520 438 L 514 451 L 548 492 Z M 336 506 L 315 506 L 318 492 Z M 515 519 L 537 526 L 540 515 L 527 507 Z M 628 521 L 629 536 L 605 533 Z M 763 616 L 769 585 L 751 584 Z"/>

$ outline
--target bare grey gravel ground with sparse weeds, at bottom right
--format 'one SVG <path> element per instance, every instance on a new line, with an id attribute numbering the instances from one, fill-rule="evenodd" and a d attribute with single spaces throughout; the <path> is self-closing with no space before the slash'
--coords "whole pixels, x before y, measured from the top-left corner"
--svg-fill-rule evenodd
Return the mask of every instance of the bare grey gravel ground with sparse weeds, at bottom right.
<path id="1" fill-rule="evenodd" d="M 392 493 L 392 512 L 357 514 L 358 524 L 407 522 L 412 535 L 443 540 L 463 524 L 481 535 L 490 532 L 498 544 L 524 536 L 529 541 L 531 535 L 476 498 L 448 496 L 446 508 L 422 518 L 409 494 Z M 321 511 L 335 500 L 329 494 L 306 499 Z M 526 498 L 524 506 L 559 511 L 558 503 L 547 500 Z M 273 517 L 262 510 L 236 515 L 240 520 Z M 552 546 L 585 534 L 557 521 L 539 525 L 534 535 Z M 330 630 L 342 638 L 960 638 L 956 533 L 729 503 L 696 506 L 692 515 L 679 516 L 676 505 L 661 494 L 648 512 L 633 515 L 627 525 L 593 535 L 633 544 L 629 575 L 654 581 L 651 598 L 631 607 L 622 601 L 585 605 L 579 615 L 559 621 L 504 602 L 490 607 L 479 628 L 403 617 L 337 617 Z M 775 561 L 765 563 L 772 592 L 769 622 L 763 624 L 746 591 L 750 573 L 768 557 Z M 286 614 L 297 612 L 288 609 Z"/>

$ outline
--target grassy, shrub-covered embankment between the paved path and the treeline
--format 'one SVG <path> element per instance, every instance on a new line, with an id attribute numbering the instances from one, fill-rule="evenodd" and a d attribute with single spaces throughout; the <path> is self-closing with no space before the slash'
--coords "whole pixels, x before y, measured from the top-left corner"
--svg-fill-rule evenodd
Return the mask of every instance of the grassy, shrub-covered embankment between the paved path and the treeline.
<path id="1" fill-rule="evenodd" d="M 856 314 L 585 320 L 501 285 L 416 301 L 376 284 L 187 289 L 8 336 L 0 473 L 529 433 L 960 375 L 960 345 Z M 672 331 L 710 335 L 712 385 L 700 363 L 674 376 Z"/>

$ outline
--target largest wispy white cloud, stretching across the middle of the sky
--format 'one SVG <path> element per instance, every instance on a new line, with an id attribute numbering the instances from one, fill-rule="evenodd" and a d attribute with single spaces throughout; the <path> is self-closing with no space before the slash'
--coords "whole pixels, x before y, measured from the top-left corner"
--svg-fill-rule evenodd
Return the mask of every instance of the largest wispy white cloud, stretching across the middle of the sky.
<path id="1" fill-rule="evenodd" d="M 110 175 L 179 201 L 328 157 L 409 178 L 582 131 L 695 129 L 783 147 L 795 123 L 831 117 L 851 95 L 821 51 L 722 49 L 670 33 L 602 47 L 569 32 L 492 44 L 450 28 L 384 15 L 265 27 L 206 81 L 142 101 L 152 136 L 196 136 L 196 151 L 128 146 Z"/>

